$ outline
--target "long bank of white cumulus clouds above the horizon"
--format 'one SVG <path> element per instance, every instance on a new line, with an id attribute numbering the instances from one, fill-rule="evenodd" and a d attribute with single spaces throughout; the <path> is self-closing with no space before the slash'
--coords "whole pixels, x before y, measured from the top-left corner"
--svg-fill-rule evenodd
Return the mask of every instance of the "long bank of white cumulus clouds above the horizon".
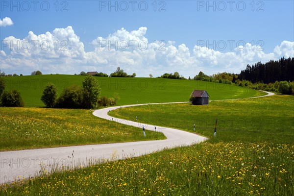
<path id="1" fill-rule="evenodd" d="M 282 56 L 294 57 L 294 42 L 283 41 L 270 53 L 250 43 L 229 52 L 201 46 L 189 49 L 184 43 L 175 45 L 170 40 L 148 42 L 147 27 L 132 31 L 121 28 L 107 37 L 98 36 L 91 43 L 94 49 L 86 52 L 72 26 L 55 28 L 40 35 L 30 31 L 21 39 L 6 37 L 4 50 L 0 51 L 1 70 L 5 73 L 23 70 L 23 74 L 34 70 L 43 73 L 97 71 L 109 74 L 121 67 L 128 74 L 137 73 L 138 77 L 174 72 L 194 77 L 200 71 L 205 74 L 240 73 L 247 64 L 278 60 Z"/>

